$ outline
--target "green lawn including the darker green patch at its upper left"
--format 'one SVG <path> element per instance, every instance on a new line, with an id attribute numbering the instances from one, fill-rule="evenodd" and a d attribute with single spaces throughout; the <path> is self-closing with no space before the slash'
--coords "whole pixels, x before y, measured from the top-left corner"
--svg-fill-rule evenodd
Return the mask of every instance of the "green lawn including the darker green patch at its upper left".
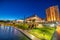
<path id="1" fill-rule="evenodd" d="M 28 30 L 28 24 L 19 24 L 18 28 Z M 32 28 L 32 29 L 29 29 L 28 32 L 36 36 L 40 40 L 51 40 L 55 32 L 55 29 L 56 29 L 55 27 L 43 25 L 42 28 Z"/>

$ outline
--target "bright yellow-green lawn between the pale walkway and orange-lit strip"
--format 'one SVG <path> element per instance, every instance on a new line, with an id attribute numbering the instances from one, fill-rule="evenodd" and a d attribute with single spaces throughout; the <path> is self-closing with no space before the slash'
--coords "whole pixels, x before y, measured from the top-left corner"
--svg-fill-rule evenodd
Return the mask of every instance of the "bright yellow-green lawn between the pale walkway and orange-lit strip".
<path id="1" fill-rule="evenodd" d="M 36 36 L 40 40 L 51 40 L 55 27 L 34 28 L 29 31 L 30 34 Z"/>

